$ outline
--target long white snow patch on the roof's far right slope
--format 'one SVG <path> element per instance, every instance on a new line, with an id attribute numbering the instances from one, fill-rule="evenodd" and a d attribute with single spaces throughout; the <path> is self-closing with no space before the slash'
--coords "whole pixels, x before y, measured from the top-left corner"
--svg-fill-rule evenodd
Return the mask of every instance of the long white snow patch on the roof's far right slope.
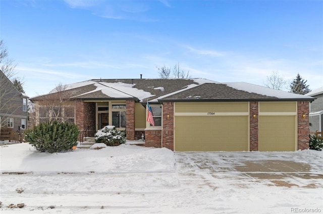
<path id="1" fill-rule="evenodd" d="M 263 86 L 257 86 L 249 83 L 243 83 L 243 82 L 234 82 L 234 83 L 224 83 L 229 87 L 232 87 L 234 89 L 246 91 L 249 93 L 255 93 L 255 94 L 261 94 L 265 96 L 271 96 L 271 97 L 277 97 L 280 99 L 310 99 L 310 96 L 306 95 L 300 95 L 300 94 L 293 94 L 290 92 L 270 89 Z"/>

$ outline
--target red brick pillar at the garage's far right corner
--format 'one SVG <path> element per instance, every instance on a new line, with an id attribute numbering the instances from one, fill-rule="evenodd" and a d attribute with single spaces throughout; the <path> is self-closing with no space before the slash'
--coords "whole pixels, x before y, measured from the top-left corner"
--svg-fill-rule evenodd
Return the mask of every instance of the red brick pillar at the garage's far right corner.
<path id="1" fill-rule="evenodd" d="M 309 102 L 297 102 L 297 150 L 309 148 Z M 303 118 L 305 114 L 305 118 Z"/>

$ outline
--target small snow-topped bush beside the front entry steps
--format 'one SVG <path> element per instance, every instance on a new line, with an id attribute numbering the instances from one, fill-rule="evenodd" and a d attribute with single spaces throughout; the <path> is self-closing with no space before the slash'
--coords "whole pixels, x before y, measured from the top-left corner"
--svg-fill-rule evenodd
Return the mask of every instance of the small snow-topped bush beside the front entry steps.
<path id="1" fill-rule="evenodd" d="M 95 142 L 106 146 L 119 146 L 126 142 L 125 133 L 116 129 L 113 125 L 107 125 L 95 134 Z"/>

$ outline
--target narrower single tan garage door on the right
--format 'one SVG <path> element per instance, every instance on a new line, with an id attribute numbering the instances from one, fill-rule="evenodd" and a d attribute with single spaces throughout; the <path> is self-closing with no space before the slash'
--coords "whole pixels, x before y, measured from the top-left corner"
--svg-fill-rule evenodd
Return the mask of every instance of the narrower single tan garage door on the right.
<path id="1" fill-rule="evenodd" d="M 259 116 L 259 151 L 295 151 L 296 116 Z"/>

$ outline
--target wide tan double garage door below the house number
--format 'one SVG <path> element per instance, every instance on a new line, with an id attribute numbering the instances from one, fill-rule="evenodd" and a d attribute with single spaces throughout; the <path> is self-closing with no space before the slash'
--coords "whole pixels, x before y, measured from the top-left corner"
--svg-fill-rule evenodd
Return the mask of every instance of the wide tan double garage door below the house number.
<path id="1" fill-rule="evenodd" d="M 248 116 L 176 116 L 175 151 L 248 151 Z"/>

